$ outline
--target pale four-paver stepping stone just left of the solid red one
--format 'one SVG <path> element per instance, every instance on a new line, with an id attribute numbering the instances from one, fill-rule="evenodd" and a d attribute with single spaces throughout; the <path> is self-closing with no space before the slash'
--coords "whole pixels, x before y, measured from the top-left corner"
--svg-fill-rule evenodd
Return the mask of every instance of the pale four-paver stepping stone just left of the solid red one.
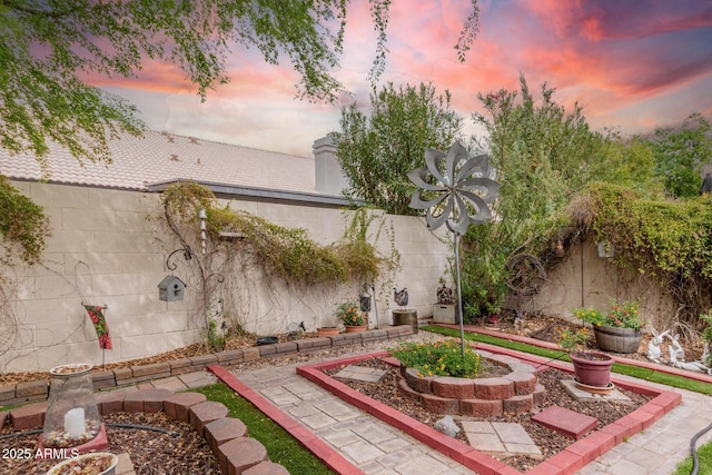
<path id="1" fill-rule="evenodd" d="M 542 452 L 521 424 L 473 420 L 461 420 L 461 424 L 468 444 L 477 451 L 505 457 L 528 455 L 542 458 Z"/>

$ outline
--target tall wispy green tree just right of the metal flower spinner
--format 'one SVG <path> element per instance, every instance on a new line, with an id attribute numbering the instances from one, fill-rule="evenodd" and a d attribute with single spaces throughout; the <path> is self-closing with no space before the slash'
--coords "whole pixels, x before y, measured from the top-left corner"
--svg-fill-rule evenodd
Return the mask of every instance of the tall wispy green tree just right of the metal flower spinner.
<path id="1" fill-rule="evenodd" d="M 506 260 L 515 254 L 542 256 L 567 219 L 566 205 L 601 169 L 609 138 L 589 128 L 582 108 L 566 111 L 555 89 L 541 87 L 537 101 L 521 78 L 517 91 L 478 95 L 487 116 L 474 119 L 488 136 L 483 148 L 502 185 L 496 219 L 472 226 L 463 239 L 465 316 L 497 311 L 506 295 Z"/>

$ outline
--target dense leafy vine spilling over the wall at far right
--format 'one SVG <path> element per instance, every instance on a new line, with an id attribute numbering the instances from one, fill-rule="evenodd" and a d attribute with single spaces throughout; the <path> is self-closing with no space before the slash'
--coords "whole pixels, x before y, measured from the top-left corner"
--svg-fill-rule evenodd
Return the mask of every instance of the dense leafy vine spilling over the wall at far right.
<path id="1" fill-rule="evenodd" d="M 615 246 L 619 266 L 670 291 L 681 318 L 694 321 L 712 308 L 712 199 L 645 200 L 596 182 L 580 202 L 575 221 Z"/>

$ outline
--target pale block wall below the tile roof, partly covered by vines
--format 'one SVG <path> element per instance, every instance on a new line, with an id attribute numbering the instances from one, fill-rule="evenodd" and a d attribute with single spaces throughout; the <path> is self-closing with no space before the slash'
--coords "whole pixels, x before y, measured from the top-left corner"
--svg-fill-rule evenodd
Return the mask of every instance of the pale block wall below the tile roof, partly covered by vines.
<path id="1" fill-rule="evenodd" d="M 46 370 L 77 362 L 100 365 L 101 349 L 82 303 L 108 306 L 105 315 L 113 349 L 106 350 L 106 363 L 150 356 L 201 339 L 201 285 L 195 267 L 180 254 L 172 260 L 176 270 L 166 268 L 166 258 L 180 246 L 156 219 L 162 216 L 159 194 L 23 181 L 12 185 L 44 207 L 52 236 L 41 265 L 0 270 L 17 283 L 10 298 L 13 319 L 2 328 L 11 338 L 0 340 L 4 345 L 0 369 Z M 335 208 L 229 202 L 277 225 L 305 228 L 323 245 L 338 240 L 346 222 L 344 212 Z M 422 219 L 379 217 L 384 228 L 393 229 L 394 245 L 402 255 L 403 268 L 390 285 L 408 287 L 408 307 L 416 308 L 419 316 L 431 315 L 448 247 Z M 377 245 L 384 254 L 389 253 L 392 244 L 385 230 Z M 219 271 L 226 275 L 226 283 L 221 294 L 215 283 L 209 286 L 214 291 L 208 310 L 212 313 L 221 297 L 221 317 L 261 335 L 285 331 L 299 321 L 309 329 L 333 324 L 336 301 L 357 297 L 360 291 L 360 283 L 334 288 L 288 286 L 265 275 L 249 257 L 240 267 Z M 158 284 L 168 274 L 186 283 L 185 300 L 159 300 Z M 388 283 L 377 284 L 379 321 L 387 324 L 395 306 L 393 289 L 385 287 Z M 372 326 L 375 318 L 372 311 Z"/>

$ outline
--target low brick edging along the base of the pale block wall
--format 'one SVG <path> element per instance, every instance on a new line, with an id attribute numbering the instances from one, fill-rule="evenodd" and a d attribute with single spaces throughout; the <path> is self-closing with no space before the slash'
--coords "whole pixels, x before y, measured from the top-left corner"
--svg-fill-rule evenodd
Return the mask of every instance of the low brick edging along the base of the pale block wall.
<path id="1" fill-rule="evenodd" d="M 325 349 L 363 345 L 367 343 L 395 339 L 413 334 L 409 325 L 389 326 L 382 329 L 363 333 L 339 334 L 327 337 L 307 338 L 274 345 L 254 346 L 243 349 L 189 358 L 174 359 L 166 363 L 132 366 L 91 374 L 95 390 L 128 386 L 151 379 L 167 378 L 204 370 L 210 365 L 234 366 L 240 363 L 254 362 L 261 358 L 276 358 L 299 353 L 314 353 Z M 46 400 L 49 397 L 49 380 L 39 379 L 27 383 L 0 386 L 0 407 L 14 404 Z"/>

